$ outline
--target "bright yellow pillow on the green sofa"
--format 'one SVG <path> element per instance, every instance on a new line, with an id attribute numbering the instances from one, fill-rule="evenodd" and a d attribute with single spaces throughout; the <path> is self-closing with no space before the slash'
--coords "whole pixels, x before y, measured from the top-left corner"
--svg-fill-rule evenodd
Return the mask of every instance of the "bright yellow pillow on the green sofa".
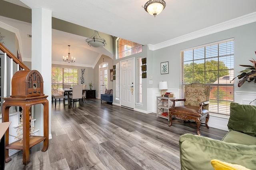
<path id="1" fill-rule="evenodd" d="M 222 162 L 217 159 L 211 160 L 211 164 L 214 170 L 250 170 L 245 168 L 244 166 Z"/>

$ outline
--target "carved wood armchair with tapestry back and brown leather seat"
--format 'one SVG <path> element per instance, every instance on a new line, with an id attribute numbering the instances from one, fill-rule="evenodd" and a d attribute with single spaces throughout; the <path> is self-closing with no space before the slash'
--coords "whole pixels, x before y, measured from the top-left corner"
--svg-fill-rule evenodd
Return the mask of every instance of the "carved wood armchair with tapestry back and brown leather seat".
<path id="1" fill-rule="evenodd" d="M 184 99 L 174 99 L 172 107 L 169 109 L 169 127 L 172 125 L 172 115 L 185 121 L 193 120 L 196 122 L 197 134 L 200 135 L 201 121 L 206 118 L 207 128 L 209 120 L 209 96 L 210 85 L 202 83 L 192 83 L 185 86 Z M 175 102 L 184 101 L 184 105 L 175 106 Z"/>

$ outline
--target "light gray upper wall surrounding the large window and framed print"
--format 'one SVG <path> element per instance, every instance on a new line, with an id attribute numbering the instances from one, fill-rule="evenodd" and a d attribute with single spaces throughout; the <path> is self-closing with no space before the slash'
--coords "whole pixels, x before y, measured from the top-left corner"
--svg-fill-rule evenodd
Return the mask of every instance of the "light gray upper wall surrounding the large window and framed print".
<path id="1" fill-rule="evenodd" d="M 180 88 L 180 50 L 186 49 L 206 43 L 234 38 L 234 74 L 239 74 L 239 71 L 244 67 L 239 64 L 252 65 L 249 59 L 256 59 L 254 51 L 256 51 L 256 22 L 239 26 L 187 42 L 179 43 L 162 49 L 153 51 L 153 73 L 154 83 L 153 87 L 158 88 L 159 81 L 168 81 L 169 89 Z M 160 74 L 160 63 L 169 61 L 169 74 Z M 256 85 L 254 83 L 244 83 L 238 88 L 238 79 L 235 79 L 235 91 L 255 91 Z"/>

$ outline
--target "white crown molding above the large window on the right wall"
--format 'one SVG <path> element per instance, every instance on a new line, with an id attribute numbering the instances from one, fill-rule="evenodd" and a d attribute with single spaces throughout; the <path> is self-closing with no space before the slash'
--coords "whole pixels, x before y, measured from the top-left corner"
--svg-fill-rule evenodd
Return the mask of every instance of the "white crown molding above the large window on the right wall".
<path id="1" fill-rule="evenodd" d="M 201 29 L 201 30 L 189 33 L 189 34 L 185 34 L 183 36 L 173 38 L 171 40 L 161 42 L 156 45 L 148 44 L 148 48 L 149 48 L 149 50 L 154 51 L 154 50 L 168 47 L 171 45 L 175 45 L 178 43 L 182 43 L 182 42 L 194 40 L 196 38 L 200 38 L 203 36 L 207 36 L 210 34 L 214 34 L 216 32 L 228 30 L 230 28 L 235 28 L 235 27 L 242 26 L 245 24 L 250 24 L 252 22 L 256 22 L 256 12 L 253 12 L 253 13 L 250 13 L 250 14 L 247 14 L 244 16 L 240 16 L 238 18 L 234 18 L 232 20 L 228 20 L 226 22 L 222 22 L 220 24 L 216 24 L 214 26 L 210 26 L 210 27 L 207 27 L 207 28 L 204 28 L 204 29 Z"/>

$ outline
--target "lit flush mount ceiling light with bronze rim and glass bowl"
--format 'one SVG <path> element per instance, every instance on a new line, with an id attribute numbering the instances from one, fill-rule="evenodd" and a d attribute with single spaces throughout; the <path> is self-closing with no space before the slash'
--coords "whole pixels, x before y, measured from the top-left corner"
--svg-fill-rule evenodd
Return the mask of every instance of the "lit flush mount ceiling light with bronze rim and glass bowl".
<path id="1" fill-rule="evenodd" d="M 165 6 L 166 3 L 164 2 L 164 0 L 149 0 L 144 5 L 144 10 L 148 12 L 148 14 L 156 17 L 156 15 L 160 14 L 162 10 L 164 10 Z"/>

